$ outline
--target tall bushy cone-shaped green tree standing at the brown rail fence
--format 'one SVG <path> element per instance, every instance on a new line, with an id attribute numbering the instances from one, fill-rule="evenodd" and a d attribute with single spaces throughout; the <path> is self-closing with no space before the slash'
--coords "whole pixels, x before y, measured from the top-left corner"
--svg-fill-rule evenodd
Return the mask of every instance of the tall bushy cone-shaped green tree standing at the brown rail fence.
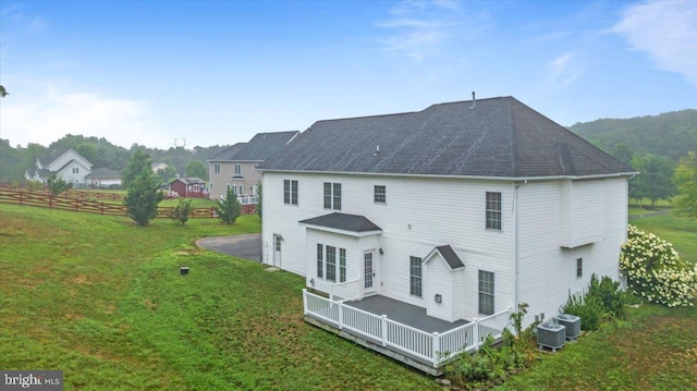
<path id="1" fill-rule="evenodd" d="M 157 217 L 157 206 L 164 198 L 159 188 L 160 181 L 149 164 L 131 182 L 123 205 L 138 225 L 146 227 Z"/>

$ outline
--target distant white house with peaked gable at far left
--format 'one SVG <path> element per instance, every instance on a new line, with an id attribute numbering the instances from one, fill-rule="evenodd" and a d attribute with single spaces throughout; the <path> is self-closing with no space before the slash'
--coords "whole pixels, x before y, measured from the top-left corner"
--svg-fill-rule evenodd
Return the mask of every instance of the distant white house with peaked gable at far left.
<path id="1" fill-rule="evenodd" d="M 51 175 L 56 175 L 73 184 L 88 184 L 87 175 L 90 173 L 91 163 L 73 149 L 68 149 L 56 158 L 36 159 L 35 167 L 24 171 L 24 178 L 46 183 Z"/>

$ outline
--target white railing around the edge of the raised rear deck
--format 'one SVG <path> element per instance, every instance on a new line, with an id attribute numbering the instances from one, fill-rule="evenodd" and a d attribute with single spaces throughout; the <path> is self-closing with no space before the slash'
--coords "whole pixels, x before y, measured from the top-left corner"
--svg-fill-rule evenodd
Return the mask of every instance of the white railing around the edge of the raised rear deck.
<path id="1" fill-rule="evenodd" d="M 389 346 L 402 353 L 416 356 L 430 363 L 433 367 L 467 351 L 476 351 L 488 334 L 501 338 L 503 329 L 509 325 L 511 308 L 475 319 L 473 322 L 439 334 L 429 333 L 413 327 L 388 319 L 386 315 L 376 315 L 348 306 L 342 302 L 331 301 L 303 290 L 305 315 L 322 320 L 340 330 L 377 340 L 382 346 Z"/>

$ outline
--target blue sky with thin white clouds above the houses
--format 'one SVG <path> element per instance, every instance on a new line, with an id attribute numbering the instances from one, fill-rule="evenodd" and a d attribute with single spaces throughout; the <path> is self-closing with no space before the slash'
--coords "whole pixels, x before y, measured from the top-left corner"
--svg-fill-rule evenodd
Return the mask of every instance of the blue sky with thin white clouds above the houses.
<path id="1" fill-rule="evenodd" d="M 0 138 L 211 146 L 514 96 L 562 125 L 697 108 L 697 1 L 0 0 Z"/>

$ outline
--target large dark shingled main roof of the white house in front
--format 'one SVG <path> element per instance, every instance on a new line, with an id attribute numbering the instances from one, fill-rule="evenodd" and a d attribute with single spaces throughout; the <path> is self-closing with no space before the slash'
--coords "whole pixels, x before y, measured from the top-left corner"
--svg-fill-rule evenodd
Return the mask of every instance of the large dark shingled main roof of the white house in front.
<path id="1" fill-rule="evenodd" d="M 513 97 L 316 122 L 264 171 L 498 178 L 586 176 L 632 169 Z M 379 150 L 378 150 L 379 148 Z"/>

